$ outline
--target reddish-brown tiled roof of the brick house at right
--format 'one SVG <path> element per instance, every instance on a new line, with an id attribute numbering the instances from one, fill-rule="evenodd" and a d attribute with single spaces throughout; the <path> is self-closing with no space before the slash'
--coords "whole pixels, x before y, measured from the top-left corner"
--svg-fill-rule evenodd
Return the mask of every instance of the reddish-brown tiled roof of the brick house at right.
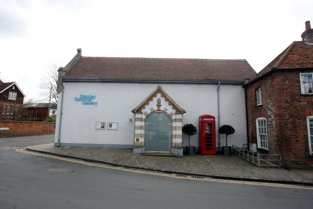
<path id="1" fill-rule="evenodd" d="M 274 70 L 307 68 L 313 68 L 313 45 L 306 44 L 303 41 L 295 41 L 263 70 L 253 76 L 249 83 Z"/>

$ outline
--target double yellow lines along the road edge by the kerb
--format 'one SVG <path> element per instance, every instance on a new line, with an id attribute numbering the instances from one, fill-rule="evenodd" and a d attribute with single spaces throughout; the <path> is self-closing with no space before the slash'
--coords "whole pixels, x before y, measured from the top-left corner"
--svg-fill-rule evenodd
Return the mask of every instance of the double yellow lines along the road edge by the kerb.
<path id="1" fill-rule="evenodd" d="M 173 174 L 158 173 L 158 172 L 154 172 L 154 171 L 133 170 L 131 168 L 115 167 L 113 165 L 107 165 L 107 164 L 101 164 L 101 163 L 90 163 L 90 162 L 85 162 L 85 161 L 80 161 L 80 160 L 75 160 L 75 159 L 69 159 L 69 158 L 63 158 L 63 157 L 58 157 L 58 156 L 53 156 L 53 155 L 48 155 L 48 154 L 43 154 L 43 153 L 26 151 L 25 149 L 16 149 L 16 151 L 21 152 L 21 153 L 25 153 L 25 154 L 30 154 L 30 155 L 36 155 L 36 156 L 42 156 L 42 157 L 46 157 L 46 158 L 57 159 L 57 160 L 61 160 L 61 161 L 85 164 L 85 165 L 89 165 L 89 166 L 110 168 L 110 169 L 114 169 L 114 170 L 122 170 L 122 171 L 127 171 L 127 172 L 149 174 L 149 175 L 155 175 L 155 176 L 164 176 L 164 177 L 170 177 L 170 178 L 176 178 L 176 179 L 189 179 L 189 180 L 205 181 L 205 182 L 221 182 L 221 183 L 232 183 L 232 184 L 242 184 L 242 185 L 275 186 L 275 187 L 286 187 L 286 188 L 313 190 L 312 186 L 297 186 L 297 185 L 287 185 L 287 184 L 285 185 L 285 184 L 263 183 L 263 182 L 246 182 L 246 181 L 224 180 L 224 179 L 205 179 L 205 178 L 204 179 L 195 179 L 195 178 L 192 178 L 191 176 L 190 177 L 189 176 L 181 177 L 181 176 L 176 176 Z"/>

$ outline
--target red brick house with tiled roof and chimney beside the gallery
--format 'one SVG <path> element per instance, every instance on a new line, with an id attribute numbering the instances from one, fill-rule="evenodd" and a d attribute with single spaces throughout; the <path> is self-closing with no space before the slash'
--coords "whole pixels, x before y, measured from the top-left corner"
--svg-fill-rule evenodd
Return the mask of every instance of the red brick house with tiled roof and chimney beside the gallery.
<path id="1" fill-rule="evenodd" d="M 285 165 L 313 165 L 313 29 L 245 85 L 250 149 L 281 154 Z"/>

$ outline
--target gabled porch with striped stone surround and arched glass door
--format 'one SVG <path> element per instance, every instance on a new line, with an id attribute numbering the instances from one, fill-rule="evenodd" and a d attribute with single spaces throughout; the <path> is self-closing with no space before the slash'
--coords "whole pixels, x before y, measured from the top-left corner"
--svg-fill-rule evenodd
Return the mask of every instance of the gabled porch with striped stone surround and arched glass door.
<path id="1" fill-rule="evenodd" d="M 135 115 L 134 153 L 169 152 L 177 156 L 182 156 L 182 114 L 186 111 L 179 107 L 162 87 L 158 86 L 155 91 L 134 108 L 132 112 Z M 149 119 L 149 117 L 151 118 Z M 159 117 L 168 118 L 164 120 L 164 123 L 161 122 L 164 131 L 158 130 L 159 128 L 156 129 L 156 127 L 152 128 L 149 124 L 146 124 L 147 120 L 148 123 L 150 123 L 150 120 L 154 123 L 159 122 Z M 168 121 L 167 124 L 171 129 L 169 127 L 165 129 L 166 121 Z M 168 130 L 171 130 L 170 134 L 168 134 Z M 157 136 L 154 136 L 153 134 L 156 133 Z M 170 137 L 167 138 L 168 136 Z M 159 139 L 164 141 L 159 141 Z M 165 139 L 167 141 L 166 143 Z M 167 139 L 170 141 L 168 142 Z M 170 146 L 169 148 L 168 145 Z M 165 148 L 156 149 L 156 147 L 159 146 L 166 147 L 166 150 Z"/>

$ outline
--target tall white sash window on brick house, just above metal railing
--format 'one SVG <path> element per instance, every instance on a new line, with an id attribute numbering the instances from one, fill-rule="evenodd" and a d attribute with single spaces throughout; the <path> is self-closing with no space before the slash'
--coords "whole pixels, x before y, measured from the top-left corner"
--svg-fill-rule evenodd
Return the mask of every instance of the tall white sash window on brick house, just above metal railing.
<path id="1" fill-rule="evenodd" d="M 258 148 L 268 150 L 268 127 L 265 117 L 256 119 L 256 135 Z"/>

